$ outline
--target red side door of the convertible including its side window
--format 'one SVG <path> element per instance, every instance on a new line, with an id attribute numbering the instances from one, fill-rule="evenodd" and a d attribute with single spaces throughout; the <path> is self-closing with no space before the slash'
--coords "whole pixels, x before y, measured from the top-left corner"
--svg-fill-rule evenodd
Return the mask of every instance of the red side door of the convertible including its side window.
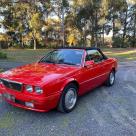
<path id="1" fill-rule="evenodd" d="M 94 60 L 94 65 L 82 68 L 81 94 L 99 86 L 105 80 L 105 61 L 97 49 L 87 50 L 85 61 L 90 60 Z"/>

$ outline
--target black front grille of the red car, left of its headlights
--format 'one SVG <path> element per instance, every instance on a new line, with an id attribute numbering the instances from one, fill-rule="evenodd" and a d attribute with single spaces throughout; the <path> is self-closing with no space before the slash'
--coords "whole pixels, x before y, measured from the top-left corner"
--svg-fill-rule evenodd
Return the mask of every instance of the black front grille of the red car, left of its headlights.
<path id="1" fill-rule="evenodd" d="M 6 80 L 6 79 L 0 79 L 3 83 L 3 85 L 7 88 L 10 88 L 12 90 L 16 90 L 16 91 L 22 91 L 22 84 L 21 83 L 17 83 L 14 81 L 10 81 L 10 80 Z"/>

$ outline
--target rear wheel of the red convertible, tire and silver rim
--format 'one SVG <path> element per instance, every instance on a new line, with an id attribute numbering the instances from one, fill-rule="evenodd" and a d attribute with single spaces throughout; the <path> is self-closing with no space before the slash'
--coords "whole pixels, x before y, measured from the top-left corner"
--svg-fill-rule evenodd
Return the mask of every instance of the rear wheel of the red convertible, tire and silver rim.
<path id="1" fill-rule="evenodd" d="M 111 79 L 111 78 L 113 78 L 113 79 Z M 113 86 L 114 83 L 115 83 L 115 78 L 116 78 L 115 71 L 111 71 L 109 76 L 108 76 L 107 81 L 105 82 L 105 85 L 108 86 L 108 87 Z"/>

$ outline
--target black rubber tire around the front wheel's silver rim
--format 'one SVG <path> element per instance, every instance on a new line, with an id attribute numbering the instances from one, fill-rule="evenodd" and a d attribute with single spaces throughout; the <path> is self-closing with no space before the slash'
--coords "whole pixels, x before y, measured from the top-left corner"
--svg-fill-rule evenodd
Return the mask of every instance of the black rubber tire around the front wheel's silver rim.
<path id="1" fill-rule="evenodd" d="M 72 108 L 70 108 L 70 109 L 67 108 L 66 102 L 65 102 L 66 101 L 65 100 L 66 99 L 66 95 L 68 94 L 69 91 L 73 91 L 73 93 L 76 96 L 76 102 L 75 102 L 74 106 Z M 71 112 L 75 108 L 76 103 L 77 103 L 77 99 L 78 99 L 78 94 L 77 93 L 78 93 L 77 86 L 75 84 L 73 84 L 73 83 L 68 84 L 64 88 L 64 90 L 62 92 L 62 95 L 61 95 L 61 98 L 60 98 L 60 101 L 59 101 L 58 107 L 57 107 L 58 111 L 63 112 L 63 113 L 69 113 L 69 112 Z"/>

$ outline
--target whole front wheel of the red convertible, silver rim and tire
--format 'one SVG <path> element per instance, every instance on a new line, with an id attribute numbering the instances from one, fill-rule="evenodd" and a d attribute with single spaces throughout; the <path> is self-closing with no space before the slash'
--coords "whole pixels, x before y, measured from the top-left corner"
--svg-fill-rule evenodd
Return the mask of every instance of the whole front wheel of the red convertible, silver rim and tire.
<path id="1" fill-rule="evenodd" d="M 65 87 L 58 104 L 59 111 L 68 113 L 75 108 L 78 98 L 77 91 L 78 88 L 73 83 L 70 83 Z"/>

